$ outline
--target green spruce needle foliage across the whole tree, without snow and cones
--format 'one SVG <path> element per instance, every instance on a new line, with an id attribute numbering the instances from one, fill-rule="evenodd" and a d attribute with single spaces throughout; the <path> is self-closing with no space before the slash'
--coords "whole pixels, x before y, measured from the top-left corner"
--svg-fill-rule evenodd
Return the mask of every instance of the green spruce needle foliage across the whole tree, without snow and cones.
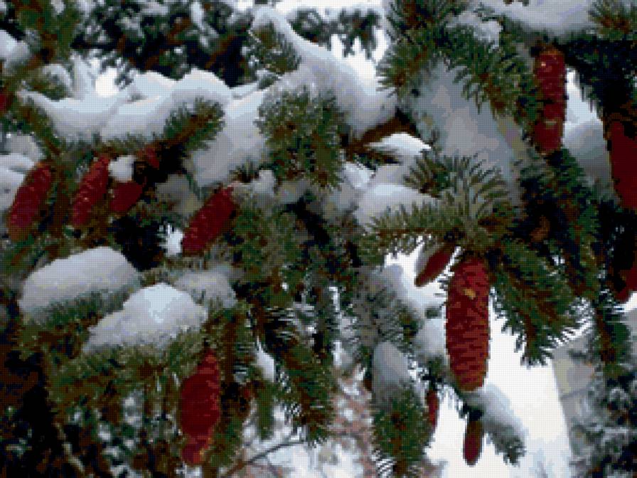
<path id="1" fill-rule="evenodd" d="M 582 476 L 634 472 L 634 366 L 617 295 L 625 285 L 623 273 L 634 262 L 636 216 L 607 191 L 588 186 L 567 149 L 541 156 L 527 145 L 526 162 L 516 164 L 521 201 L 514 206 L 496 168 L 484 168 L 477 156 L 441 154 L 434 134 L 432 149 L 415 158 L 399 181 L 420 193 L 422 203 L 385 210 L 359 224 L 353 207 L 326 213 L 333 193 L 356 196 L 363 188 L 348 190 L 343 171 L 367 166 L 365 172 L 374 174 L 390 163 L 400 166 L 401 161 L 368 144 L 397 132 L 418 136 L 419 119 L 407 117 L 399 106 L 393 117 L 353 137 L 336 92 L 277 85 L 306 58 L 275 24 L 253 30 L 253 8 L 239 11 L 232 2 L 210 0 L 100 1 L 83 9 L 71 0 L 5 4 L 0 29 L 25 41 L 28 55 L 0 65 L 1 132 L 33 137 L 52 171 L 52 186 L 26 237 L 3 239 L 0 248 L 2 473 L 174 476 L 186 443 L 177 420 L 179 387 L 210 350 L 218 357 L 223 413 L 205 447 L 203 476 L 230 476 L 240 469 L 247 423 L 254 418 L 259 437 L 273 437 L 279 405 L 301 441 L 319 445 L 333 432 L 339 341 L 365 373 L 365 382 L 374 378 L 375 349 L 388 342 L 419 380 L 435 383 L 439 393 L 456 400 L 459 415 L 481 417 L 505 462 L 518 462 L 524 446 L 514 427 L 488 418 L 486 403 L 458 390 L 440 356 L 422 359 L 417 333 L 431 317 L 421 317 L 422 311 L 407 304 L 382 269 L 387 254 L 412 253 L 434 243 L 459 248 L 459 257 L 485 261 L 496 313 L 517 336 L 525 363 L 546 363 L 572 331 L 591 326 L 587 359 L 596 363 L 594 418 L 582 430 L 599 446 L 587 452 Z M 464 0 L 390 2 L 385 19 L 392 43 L 378 75 L 380 84 L 397 95 L 397 105 L 419 95 L 417 86 L 443 62 L 456 70 L 466 100 L 478 108 L 488 102 L 494 117 L 515 118 L 528 140 L 540 107 L 522 52 L 533 55 L 552 43 L 604 122 L 620 119 L 633 134 L 636 6 L 596 0 L 591 9 L 596 27 L 560 38 L 529 32 L 487 8 L 473 9 L 482 20 L 500 24 L 497 43 L 480 39 L 473 26 L 456 23 L 470 7 Z M 328 19 L 312 9 L 296 9 L 287 19 L 301 38 L 321 46 L 329 47 L 336 34 L 346 55 L 360 38 L 368 58 L 376 45 L 373 28 L 381 20 L 375 9 L 343 9 Z M 264 153 L 230 171 L 243 183 L 233 196 L 237 208 L 231 227 L 198 257 L 169 257 L 159 244 L 161 228 L 167 223 L 183 227 L 188 214 L 160 201 L 158 191 L 169 178 L 185 176 L 203 202 L 226 186 L 221 179 L 198 184 L 189 164 L 227 127 L 223 106 L 198 97 L 176 105 L 151 137 L 95 134 L 72 141 L 22 91 L 54 102 L 71 97 L 60 68 L 68 73 L 75 53 L 97 58 L 102 70 L 117 67 L 120 86 L 136 73 L 179 80 L 198 68 L 221 78 L 233 97 L 267 90 L 255 122 Z M 73 228 L 70 198 L 102 154 L 134 156 L 132 179 L 141 186 L 141 196 L 119 213 L 109 211 L 105 196 L 87 225 Z M 272 191 L 251 191 L 265 170 L 274 176 Z M 116 181 L 108 181 L 112 189 Z M 298 194 L 282 199 L 290 188 Z M 21 282 L 31 272 L 98 245 L 121 252 L 139 271 L 139 283 L 35 311 L 20 309 Z M 208 301 L 202 292 L 196 297 L 205 309 L 200 329 L 179 331 L 163 348 L 148 343 L 85 347 L 92 327 L 121 310 L 134 290 L 161 282 L 176 286 L 185 272 L 210 272 L 208 266 L 217 262 L 234 271 L 226 277 L 233 302 Z M 446 278 L 443 285 L 448 283 Z M 259 366 L 257 346 L 274 361 L 273 380 Z M 376 465 L 383 476 L 416 477 L 422 469 L 433 430 L 416 385 L 410 379 L 389 403 L 378 396 L 370 402 Z"/>

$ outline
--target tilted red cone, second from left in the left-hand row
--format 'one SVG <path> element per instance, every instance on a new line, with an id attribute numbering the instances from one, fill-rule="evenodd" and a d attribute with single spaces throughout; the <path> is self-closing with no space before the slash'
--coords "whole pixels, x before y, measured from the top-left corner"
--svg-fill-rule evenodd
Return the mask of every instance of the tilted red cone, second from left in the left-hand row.
<path id="1" fill-rule="evenodd" d="M 102 199 L 108 188 L 109 156 L 102 155 L 91 164 L 90 169 L 82 177 L 80 187 L 77 188 L 73 205 L 71 206 L 71 224 L 79 228 L 90 216 L 92 208 Z"/>

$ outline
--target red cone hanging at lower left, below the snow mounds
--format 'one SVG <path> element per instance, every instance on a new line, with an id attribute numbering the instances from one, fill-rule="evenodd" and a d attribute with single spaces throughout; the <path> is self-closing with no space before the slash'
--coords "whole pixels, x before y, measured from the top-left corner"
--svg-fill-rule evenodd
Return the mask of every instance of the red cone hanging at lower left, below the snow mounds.
<path id="1" fill-rule="evenodd" d="M 181 451 L 184 462 L 196 465 L 203 460 L 213 427 L 221 416 L 221 379 L 217 358 L 209 351 L 195 373 L 181 385 L 179 427 L 188 438 Z"/>

